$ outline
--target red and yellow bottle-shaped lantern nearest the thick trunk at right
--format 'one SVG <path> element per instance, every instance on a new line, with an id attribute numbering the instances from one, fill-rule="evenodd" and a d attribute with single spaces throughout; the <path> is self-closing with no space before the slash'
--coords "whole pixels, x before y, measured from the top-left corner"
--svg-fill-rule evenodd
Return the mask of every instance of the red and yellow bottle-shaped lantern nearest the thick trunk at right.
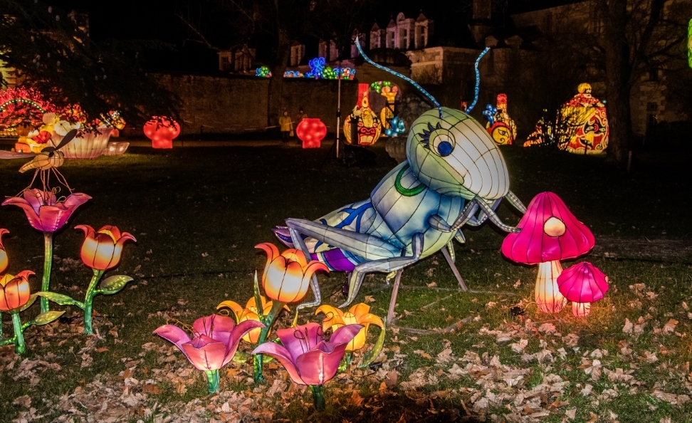
<path id="1" fill-rule="evenodd" d="M 557 147 L 575 154 L 598 154 L 608 147 L 605 105 L 591 95 L 591 85 L 582 83 L 577 95 L 562 105 L 557 127 Z"/>

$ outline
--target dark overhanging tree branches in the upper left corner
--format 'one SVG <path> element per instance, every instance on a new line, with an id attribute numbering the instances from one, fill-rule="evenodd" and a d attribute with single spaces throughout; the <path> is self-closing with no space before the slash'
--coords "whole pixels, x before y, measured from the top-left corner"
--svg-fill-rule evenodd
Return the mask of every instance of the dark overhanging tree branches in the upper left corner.
<path id="1" fill-rule="evenodd" d="M 56 105 L 79 103 L 90 117 L 120 109 L 132 123 L 175 114 L 172 94 L 117 43 L 92 41 L 65 11 L 19 0 L 0 0 L 0 10 L 0 61 Z"/>

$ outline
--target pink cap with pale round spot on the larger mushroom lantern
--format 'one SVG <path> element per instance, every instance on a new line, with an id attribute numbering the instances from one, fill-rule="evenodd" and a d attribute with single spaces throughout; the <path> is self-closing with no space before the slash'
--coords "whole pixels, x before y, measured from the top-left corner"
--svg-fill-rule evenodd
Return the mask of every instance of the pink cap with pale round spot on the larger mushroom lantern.
<path id="1" fill-rule="evenodd" d="M 594 246 L 589 228 L 552 192 L 533 197 L 517 227 L 521 231 L 505 238 L 502 254 L 518 263 L 576 258 Z"/>

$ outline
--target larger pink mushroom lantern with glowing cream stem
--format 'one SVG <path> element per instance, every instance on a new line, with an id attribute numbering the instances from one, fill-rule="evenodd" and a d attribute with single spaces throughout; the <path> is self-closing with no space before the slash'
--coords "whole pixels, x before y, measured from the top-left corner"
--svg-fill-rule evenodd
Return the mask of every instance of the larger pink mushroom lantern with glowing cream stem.
<path id="1" fill-rule="evenodd" d="M 557 289 L 560 260 L 586 254 L 594 246 L 594 236 L 552 192 L 531 200 L 517 228 L 521 230 L 503 241 L 502 254 L 518 263 L 538 263 L 536 305 L 543 313 L 558 313 L 567 303 Z"/>

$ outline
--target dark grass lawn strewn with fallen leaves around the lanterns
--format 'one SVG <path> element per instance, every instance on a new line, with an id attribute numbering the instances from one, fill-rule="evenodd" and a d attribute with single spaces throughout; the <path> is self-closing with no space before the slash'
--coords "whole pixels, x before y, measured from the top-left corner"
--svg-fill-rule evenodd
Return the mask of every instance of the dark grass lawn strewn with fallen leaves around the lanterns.
<path id="1" fill-rule="evenodd" d="M 95 298 L 97 335 L 81 335 L 78 310 L 66 308 L 59 323 L 26 330 L 21 357 L 11 345 L 0 348 L 1 420 L 692 422 L 688 151 L 638 152 L 625 174 L 601 157 L 501 149 L 511 188 L 525 204 L 555 192 L 592 229 L 592 252 L 563 263 L 591 261 L 610 278 L 588 318 L 574 318 L 570 307 L 538 312 L 537 268 L 503 258 L 505 234 L 486 223 L 465 229 L 466 244 L 456 244 L 471 292 L 456 289 L 441 254 L 407 268 L 397 327 L 388 329 L 379 364 L 328 382 L 324 412 L 315 413 L 309 390 L 291 384 L 276 362 L 266 365 L 262 386 L 253 385 L 251 365 L 231 363 L 221 392 L 208 395 L 203 373 L 152 330 L 192 324 L 224 300 L 244 304 L 266 262 L 253 247 L 278 244 L 273 226 L 365 199 L 395 165 L 384 142 L 373 147 L 377 165 L 367 168 L 325 162 L 328 147 L 131 148 L 119 157 L 66 161 L 60 169 L 70 186 L 93 199 L 56 233 L 51 286 L 83 299 L 91 271 L 79 258 L 77 224 L 113 224 L 134 235 L 137 243 L 125 244 L 120 266 L 106 276 L 135 280 Z M 31 181 L 17 172 L 21 164 L 0 162 L 4 195 Z M 520 218 L 506 204 L 498 214 L 509 224 Z M 10 231 L 3 239 L 8 272 L 35 271 L 38 291 L 41 234 L 18 207 L 0 209 L 0 227 Z M 325 303 L 342 302 L 344 281 L 343 273 L 320 276 Z M 390 294 L 384 275 L 368 276 L 357 302 L 369 301 L 384 317 Z M 517 305 L 523 318 L 510 313 Z M 305 311 L 299 323 L 320 319 Z M 9 315 L 3 320 L 7 337 Z"/>

